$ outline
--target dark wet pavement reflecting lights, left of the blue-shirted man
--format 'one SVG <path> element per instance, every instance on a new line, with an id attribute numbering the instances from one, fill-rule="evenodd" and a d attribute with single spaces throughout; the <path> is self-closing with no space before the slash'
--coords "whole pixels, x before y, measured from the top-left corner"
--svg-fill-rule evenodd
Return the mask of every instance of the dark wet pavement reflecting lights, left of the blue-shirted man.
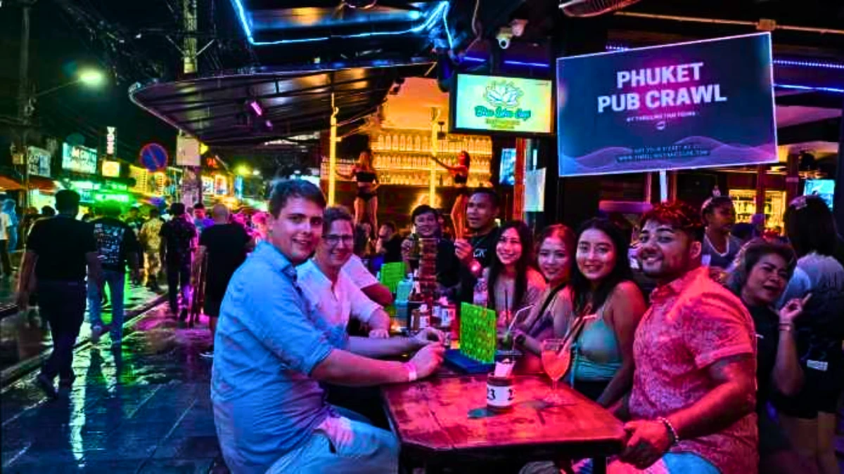
<path id="1" fill-rule="evenodd" d="M 3 389 L 3 472 L 227 472 L 214 432 L 206 320 L 183 328 L 157 306 L 127 328 L 78 347 L 77 378 L 57 401 L 35 373 Z"/>

